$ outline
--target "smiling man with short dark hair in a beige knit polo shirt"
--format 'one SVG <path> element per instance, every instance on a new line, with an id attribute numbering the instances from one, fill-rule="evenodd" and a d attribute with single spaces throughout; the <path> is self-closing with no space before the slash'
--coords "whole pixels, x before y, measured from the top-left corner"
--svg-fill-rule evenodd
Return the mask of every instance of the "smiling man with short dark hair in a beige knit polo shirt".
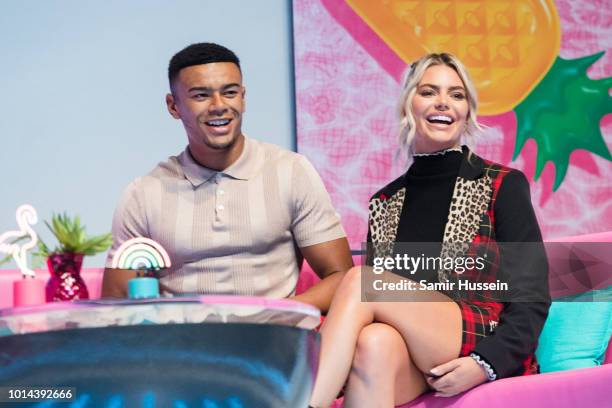
<path id="1" fill-rule="evenodd" d="M 121 243 L 143 236 L 170 254 L 160 276 L 167 292 L 292 296 L 303 256 L 322 281 L 294 299 L 326 311 L 352 260 L 312 165 L 242 133 L 245 87 L 232 51 L 190 45 L 172 57 L 168 77 L 166 104 L 188 147 L 124 192 L 102 296 L 126 296 L 135 273 L 109 266 Z"/>

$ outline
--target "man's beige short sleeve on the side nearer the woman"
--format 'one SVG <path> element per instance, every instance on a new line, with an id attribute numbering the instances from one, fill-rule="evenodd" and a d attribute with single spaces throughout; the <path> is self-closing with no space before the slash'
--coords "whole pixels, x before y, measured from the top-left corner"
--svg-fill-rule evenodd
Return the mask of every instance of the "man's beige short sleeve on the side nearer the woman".
<path id="1" fill-rule="evenodd" d="M 321 177 L 302 155 L 297 156 L 292 166 L 291 183 L 291 230 L 298 247 L 346 236 Z"/>

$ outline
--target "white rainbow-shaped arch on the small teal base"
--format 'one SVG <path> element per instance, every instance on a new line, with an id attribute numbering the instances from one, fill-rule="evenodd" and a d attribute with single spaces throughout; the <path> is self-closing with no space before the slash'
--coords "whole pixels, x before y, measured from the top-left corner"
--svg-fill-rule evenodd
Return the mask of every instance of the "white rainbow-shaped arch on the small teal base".
<path id="1" fill-rule="evenodd" d="M 125 241 L 113 256 L 115 269 L 160 270 L 172 265 L 168 252 L 149 238 L 137 237 Z"/>

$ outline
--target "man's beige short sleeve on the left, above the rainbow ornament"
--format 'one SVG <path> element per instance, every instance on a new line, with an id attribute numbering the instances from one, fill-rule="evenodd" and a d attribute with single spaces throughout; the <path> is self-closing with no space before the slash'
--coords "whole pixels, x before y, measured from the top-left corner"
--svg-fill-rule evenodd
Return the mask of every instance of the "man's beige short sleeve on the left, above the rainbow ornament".
<path id="1" fill-rule="evenodd" d="M 136 179 L 126 187 L 115 208 L 112 227 L 113 245 L 106 257 L 107 268 L 111 267 L 113 256 L 121 244 L 131 238 L 149 236 L 139 181 L 140 179 Z"/>

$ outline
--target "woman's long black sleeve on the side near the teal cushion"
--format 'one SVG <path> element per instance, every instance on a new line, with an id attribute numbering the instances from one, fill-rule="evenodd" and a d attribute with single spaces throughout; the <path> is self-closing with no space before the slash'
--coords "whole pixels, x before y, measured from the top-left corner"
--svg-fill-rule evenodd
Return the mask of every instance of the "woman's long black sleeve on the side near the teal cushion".
<path id="1" fill-rule="evenodd" d="M 501 249 L 501 271 L 508 279 L 512 301 L 505 302 L 496 330 L 474 350 L 493 366 L 497 378 L 520 374 L 523 362 L 535 351 L 548 315 L 548 263 L 542 235 L 529 193 L 529 183 L 520 171 L 511 171 L 502 181 L 494 203 L 498 242 L 526 242 L 536 256 L 525 256 L 520 246 Z M 525 301 L 538 299 L 538 301 Z M 522 298 L 523 300 L 521 300 Z"/>

